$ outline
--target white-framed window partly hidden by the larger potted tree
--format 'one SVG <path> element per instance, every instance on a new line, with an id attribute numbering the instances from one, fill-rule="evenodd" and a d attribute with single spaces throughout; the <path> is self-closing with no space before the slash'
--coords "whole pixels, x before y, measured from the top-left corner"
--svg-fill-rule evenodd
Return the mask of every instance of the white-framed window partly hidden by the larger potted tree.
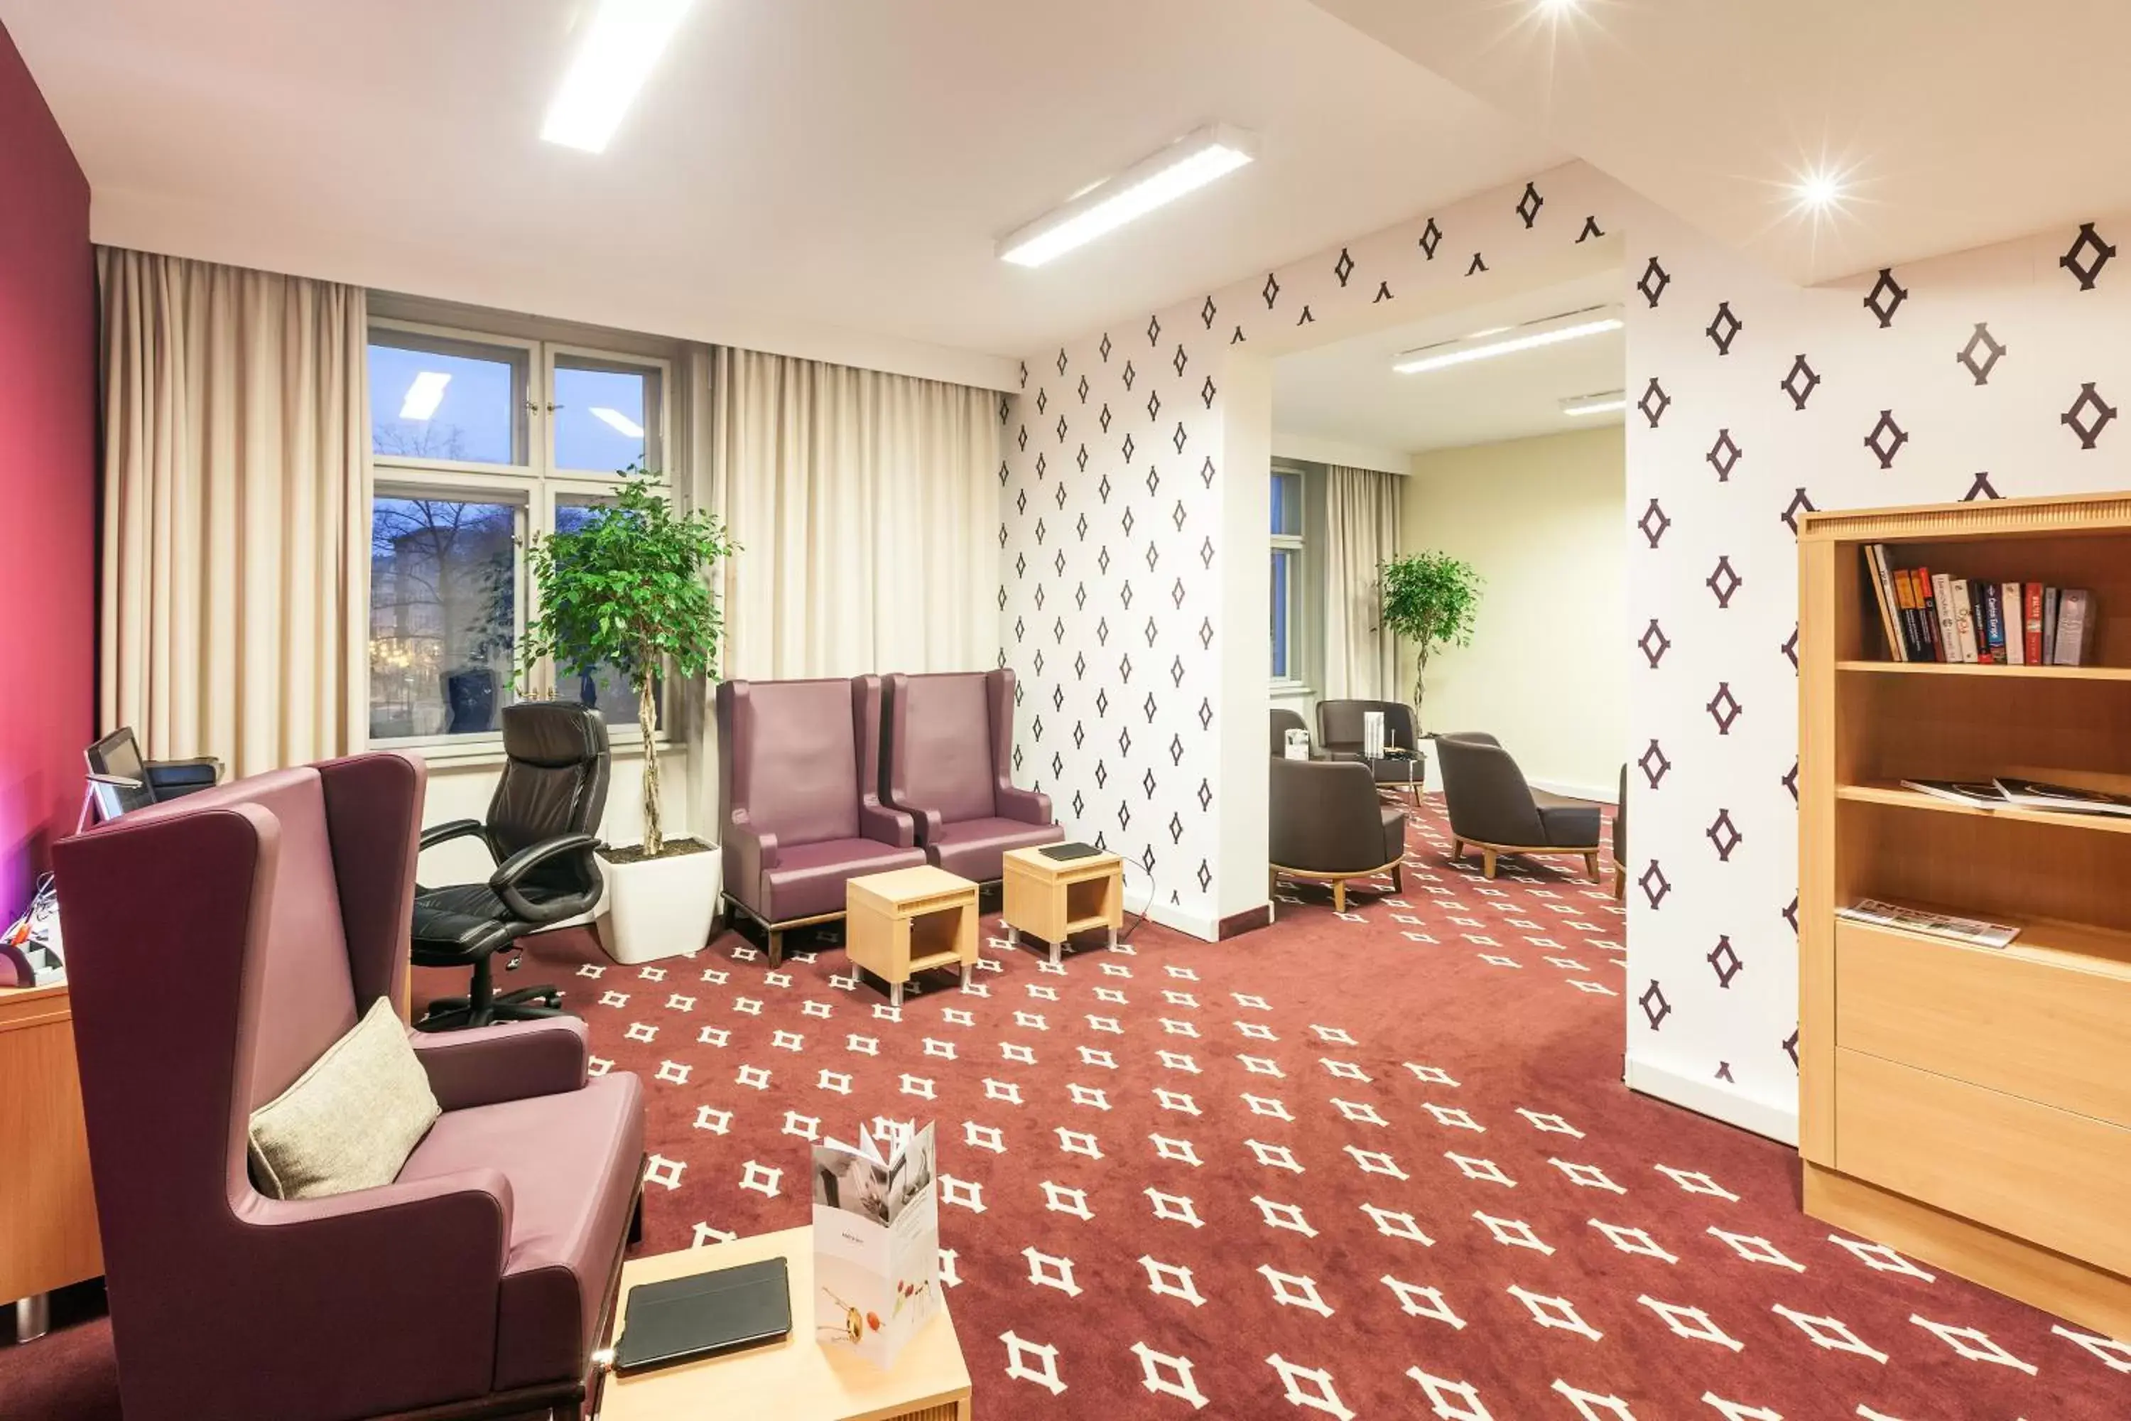
<path id="1" fill-rule="evenodd" d="M 526 539 L 582 526 L 624 469 L 663 473 L 667 371 L 641 356 L 371 324 L 371 741 L 479 744 L 516 697 L 582 699 L 618 737 L 641 733 L 616 667 L 528 667 L 522 684 L 514 669 L 539 614 Z"/>

